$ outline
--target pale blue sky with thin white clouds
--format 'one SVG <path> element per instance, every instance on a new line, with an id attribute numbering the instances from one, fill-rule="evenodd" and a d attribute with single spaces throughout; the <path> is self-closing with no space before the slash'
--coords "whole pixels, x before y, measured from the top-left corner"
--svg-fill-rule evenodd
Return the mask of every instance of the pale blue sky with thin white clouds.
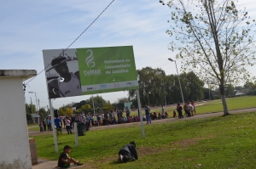
<path id="1" fill-rule="evenodd" d="M 43 49 L 67 48 L 112 0 L 10 0 L 0 6 L 0 69 L 44 70 Z M 167 1 L 165 1 L 167 2 Z M 242 0 L 249 15 L 256 19 L 253 0 Z M 177 53 L 168 50 L 171 38 L 166 34 L 171 11 L 159 0 L 115 0 L 113 4 L 73 43 L 70 48 L 132 45 L 137 69 L 161 68 L 166 75 L 176 74 L 168 58 Z M 253 17 L 254 16 L 254 17 Z M 178 70 L 180 63 L 177 60 Z M 248 70 L 256 76 L 255 66 Z M 26 81 L 27 82 L 27 81 Z M 49 105 L 44 71 L 26 87 L 26 103 Z M 102 93 L 111 103 L 127 97 L 126 92 Z M 90 95 L 53 100 L 63 104 L 89 99 Z"/>

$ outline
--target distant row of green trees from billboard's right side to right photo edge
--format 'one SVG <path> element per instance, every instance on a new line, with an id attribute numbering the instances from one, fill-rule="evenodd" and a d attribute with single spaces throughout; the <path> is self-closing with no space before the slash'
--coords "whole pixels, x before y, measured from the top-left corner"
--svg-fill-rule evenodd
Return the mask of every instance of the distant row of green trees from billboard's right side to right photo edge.
<path id="1" fill-rule="evenodd" d="M 179 75 L 183 99 L 177 75 L 167 76 L 166 72 L 160 68 L 145 67 L 142 70 L 137 70 L 137 76 L 142 106 L 143 104 L 149 104 L 149 106 L 177 104 L 182 103 L 183 99 L 184 101 L 198 101 L 221 98 L 219 87 L 208 85 L 193 71 Z M 225 85 L 224 93 L 226 97 L 256 95 L 256 82 L 247 82 L 243 87 Z M 137 108 L 136 90 L 129 91 L 128 97 L 132 101 L 133 108 Z"/>

